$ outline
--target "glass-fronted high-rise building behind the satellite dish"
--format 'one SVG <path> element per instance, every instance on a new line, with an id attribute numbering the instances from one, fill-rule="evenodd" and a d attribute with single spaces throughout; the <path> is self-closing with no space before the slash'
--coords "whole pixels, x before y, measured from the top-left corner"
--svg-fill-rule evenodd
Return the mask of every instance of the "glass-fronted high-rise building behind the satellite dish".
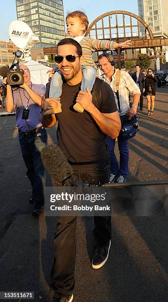
<path id="1" fill-rule="evenodd" d="M 16 0 L 17 19 L 38 36 L 33 48 L 55 46 L 65 38 L 63 0 Z"/>

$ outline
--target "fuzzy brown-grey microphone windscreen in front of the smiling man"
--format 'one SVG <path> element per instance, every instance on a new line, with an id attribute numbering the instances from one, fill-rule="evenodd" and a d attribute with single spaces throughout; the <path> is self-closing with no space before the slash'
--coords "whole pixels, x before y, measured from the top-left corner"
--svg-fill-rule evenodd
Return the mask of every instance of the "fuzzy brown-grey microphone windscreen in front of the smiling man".
<path id="1" fill-rule="evenodd" d="M 72 175 L 72 168 L 63 151 L 57 145 L 52 144 L 44 147 L 41 151 L 41 158 L 52 180 L 57 184 L 62 184 L 66 177 Z"/>

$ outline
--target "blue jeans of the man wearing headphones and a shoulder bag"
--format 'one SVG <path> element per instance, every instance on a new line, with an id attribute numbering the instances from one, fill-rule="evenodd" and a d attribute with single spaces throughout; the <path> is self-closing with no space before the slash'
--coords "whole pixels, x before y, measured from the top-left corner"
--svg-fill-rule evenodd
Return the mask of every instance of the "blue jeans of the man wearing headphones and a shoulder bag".
<path id="1" fill-rule="evenodd" d="M 120 168 L 118 166 L 117 158 L 115 156 L 114 147 L 115 139 L 106 138 L 109 152 L 110 152 L 110 174 L 122 175 L 127 177 L 128 175 L 128 163 L 129 163 L 129 149 L 128 140 L 124 139 L 120 134 L 118 136 L 118 149 L 120 152 Z"/>

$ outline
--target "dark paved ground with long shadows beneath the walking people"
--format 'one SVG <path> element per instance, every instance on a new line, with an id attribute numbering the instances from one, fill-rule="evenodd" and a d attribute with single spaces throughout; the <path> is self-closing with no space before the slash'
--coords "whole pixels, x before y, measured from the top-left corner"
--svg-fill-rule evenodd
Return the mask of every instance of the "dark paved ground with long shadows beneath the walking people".
<path id="1" fill-rule="evenodd" d="M 138 112 L 140 132 L 129 142 L 128 181 L 168 179 L 168 88 L 158 89 L 155 104 L 152 117 L 146 115 L 146 100 Z M 33 291 L 34 302 L 49 302 L 55 218 L 31 216 L 15 116 L 1 112 L 0 291 Z M 48 137 L 56 142 L 54 128 Z M 168 302 L 168 186 L 119 192 L 109 260 L 99 270 L 91 267 L 93 220 L 78 221 L 74 302 Z"/>

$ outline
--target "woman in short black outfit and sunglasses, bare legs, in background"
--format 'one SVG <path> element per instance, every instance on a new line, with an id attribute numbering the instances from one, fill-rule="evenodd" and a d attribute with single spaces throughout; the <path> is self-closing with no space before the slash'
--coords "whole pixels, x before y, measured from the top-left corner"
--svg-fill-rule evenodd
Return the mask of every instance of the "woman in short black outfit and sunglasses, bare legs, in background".
<path id="1" fill-rule="evenodd" d="M 153 74 L 153 70 L 151 68 L 148 69 L 146 77 L 144 77 L 145 81 L 145 96 L 147 98 L 147 106 L 148 106 L 148 113 L 147 115 L 153 115 L 153 110 L 155 106 L 155 95 L 156 95 L 156 86 L 158 79 Z M 151 108 L 151 109 L 150 109 Z"/>

